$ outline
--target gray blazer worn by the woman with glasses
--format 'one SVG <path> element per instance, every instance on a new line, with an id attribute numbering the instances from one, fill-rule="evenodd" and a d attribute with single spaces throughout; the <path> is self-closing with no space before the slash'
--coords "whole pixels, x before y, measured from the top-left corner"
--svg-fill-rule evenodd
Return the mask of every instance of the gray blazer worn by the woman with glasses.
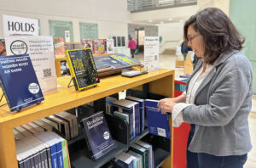
<path id="1" fill-rule="evenodd" d="M 201 66 L 202 61 L 191 77 Z M 252 108 L 252 87 L 252 67 L 246 56 L 240 51 L 222 54 L 195 92 L 195 105 L 183 109 L 183 120 L 195 124 L 189 151 L 216 156 L 250 151 L 247 118 Z"/>

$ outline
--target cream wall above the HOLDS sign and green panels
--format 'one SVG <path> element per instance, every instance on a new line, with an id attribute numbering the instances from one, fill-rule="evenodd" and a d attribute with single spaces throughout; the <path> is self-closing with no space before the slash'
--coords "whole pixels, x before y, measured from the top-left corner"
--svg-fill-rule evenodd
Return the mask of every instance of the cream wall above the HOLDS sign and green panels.
<path id="1" fill-rule="evenodd" d="M 74 3 L 75 2 L 75 3 Z M 117 8 L 118 7 L 118 8 Z M 80 41 L 79 22 L 98 24 L 99 38 L 125 36 L 129 13 L 120 0 L 9 0 L 0 5 L 0 37 L 3 38 L 3 14 L 38 19 L 41 35 L 49 36 L 49 20 L 73 21 L 74 41 Z M 127 43 L 127 42 L 126 42 Z"/>

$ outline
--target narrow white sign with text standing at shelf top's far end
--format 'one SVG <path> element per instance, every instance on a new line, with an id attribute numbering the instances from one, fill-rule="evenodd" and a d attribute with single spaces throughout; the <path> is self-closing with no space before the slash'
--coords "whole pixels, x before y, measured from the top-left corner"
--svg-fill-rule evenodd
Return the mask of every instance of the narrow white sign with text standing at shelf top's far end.
<path id="1" fill-rule="evenodd" d="M 146 70 L 157 70 L 159 68 L 158 36 L 145 36 L 144 38 L 144 66 Z"/>

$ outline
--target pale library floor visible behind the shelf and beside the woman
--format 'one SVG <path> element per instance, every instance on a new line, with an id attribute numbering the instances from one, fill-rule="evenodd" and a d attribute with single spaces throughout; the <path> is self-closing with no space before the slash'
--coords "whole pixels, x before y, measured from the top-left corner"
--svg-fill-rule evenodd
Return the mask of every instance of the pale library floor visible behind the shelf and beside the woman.
<path id="1" fill-rule="evenodd" d="M 143 53 L 139 53 L 135 56 L 135 58 L 143 63 Z M 175 76 L 183 75 L 184 69 L 175 67 L 176 59 L 176 55 L 160 55 L 160 68 L 175 70 Z M 244 165 L 244 168 L 256 168 L 256 96 L 253 96 L 252 112 L 249 115 L 249 127 L 253 143 L 253 149 L 248 154 L 247 162 Z"/>

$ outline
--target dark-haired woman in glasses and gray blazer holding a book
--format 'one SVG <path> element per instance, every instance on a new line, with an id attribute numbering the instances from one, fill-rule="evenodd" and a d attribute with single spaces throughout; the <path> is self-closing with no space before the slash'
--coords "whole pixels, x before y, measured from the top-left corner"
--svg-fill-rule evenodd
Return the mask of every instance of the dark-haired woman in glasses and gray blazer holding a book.
<path id="1" fill-rule="evenodd" d="M 241 52 L 243 38 L 218 8 L 206 8 L 184 25 L 184 40 L 199 60 L 177 98 L 160 100 L 172 125 L 191 124 L 188 168 L 241 168 L 252 148 L 248 114 L 252 107 L 252 68 Z"/>

